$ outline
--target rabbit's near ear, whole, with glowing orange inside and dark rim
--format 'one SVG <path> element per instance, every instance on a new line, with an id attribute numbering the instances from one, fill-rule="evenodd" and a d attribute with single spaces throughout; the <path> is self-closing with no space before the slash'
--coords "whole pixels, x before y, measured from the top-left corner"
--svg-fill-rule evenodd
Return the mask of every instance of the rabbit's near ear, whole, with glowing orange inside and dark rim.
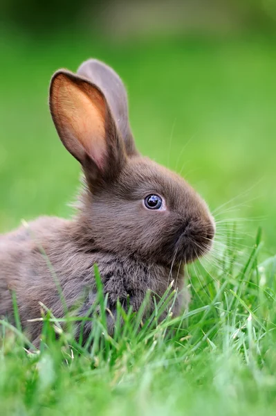
<path id="1" fill-rule="evenodd" d="M 98 86 L 57 71 L 50 83 L 50 112 L 66 149 L 90 180 L 108 180 L 125 163 L 125 146 Z"/>

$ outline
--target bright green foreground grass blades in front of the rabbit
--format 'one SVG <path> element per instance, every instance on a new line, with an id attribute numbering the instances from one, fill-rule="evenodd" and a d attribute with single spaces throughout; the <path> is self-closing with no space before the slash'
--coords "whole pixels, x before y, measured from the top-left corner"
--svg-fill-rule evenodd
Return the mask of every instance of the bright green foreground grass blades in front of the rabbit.
<path id="1" fill-rule="evenodd" d="M 242 264 L 232 233 L 228 243 L 219 267 L 190 270 L 193 302 L 179 318 L 168 310 L 158 323 L 164 297 L 140 327 L 139 313 L 118 304 L 124 325 L 111 338 L 99 278 L 92 347 L 47 311 L 39 352 L 24 350 L 20 328 L 4 324 L 1 414 L 274 415 L 276 257 L 258 263 L 259 233 Z"/>

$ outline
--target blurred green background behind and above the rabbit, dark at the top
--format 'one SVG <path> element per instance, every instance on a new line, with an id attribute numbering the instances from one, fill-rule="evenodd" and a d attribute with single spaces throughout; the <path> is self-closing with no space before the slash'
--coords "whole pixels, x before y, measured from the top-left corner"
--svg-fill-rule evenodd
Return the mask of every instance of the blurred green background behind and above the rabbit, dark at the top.
<path id="1" fill-rule="evenodd" d="M 53 127 L 48 85 L 56 69 L 94 57 L 127 85 L 141 152 L 181 173 L 212 210 L 226 204 L 217 212 L 240 218 L 242 232 L 261 225 L 275 251 L 275 1 L 0 7 L 0 232 L 70 216 L 80 167 Z"/>

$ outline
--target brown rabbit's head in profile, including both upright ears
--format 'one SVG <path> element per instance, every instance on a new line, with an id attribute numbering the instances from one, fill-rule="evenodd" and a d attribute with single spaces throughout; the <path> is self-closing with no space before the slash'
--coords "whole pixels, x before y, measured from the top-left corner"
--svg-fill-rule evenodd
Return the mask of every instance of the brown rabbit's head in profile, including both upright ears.
<path id="1" fill-rule="evenodd" d="M 127 94 L 111 68 L 89 60 L 77 74 L 57 71 L 50 112 L 62 143 L 82 164 L 79 221 L 93 249 L 168 266 L 210 250 L 207 205 L 180 176 L 138 153 Z"/>

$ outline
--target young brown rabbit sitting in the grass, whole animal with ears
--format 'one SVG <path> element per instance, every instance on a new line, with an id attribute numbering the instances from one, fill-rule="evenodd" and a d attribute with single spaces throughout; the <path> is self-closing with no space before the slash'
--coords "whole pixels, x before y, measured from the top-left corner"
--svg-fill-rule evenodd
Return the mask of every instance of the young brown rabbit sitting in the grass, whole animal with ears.
<path id="1" fill-rule="evenodd" d="M 77 75 L 57 71 L 50 112 L 82 165 L 84 189 L 73 220 L 42 217 L 0 236 L 0 315 L 12 316 L 15 291 L 21 324 L 39 340 L 41 323 L 28 322 L 41 315 L 39 301 L 64 315 L 53 271 L 68 308 L 86 293 L 79 309 L 85 315 L 96 297 L 95 263 L 113 315 L 118 299 L 123 306 L 129 299 L 137 311 L 148 289 L 162 296 L 168 284 L 178 288 L 174 314 L 181 313 L 181 266 L 212 245 L 207 205 L 181 177 L 138 153 L 125 88 L 102 62 L 84 62 Z M 108 315 L 110 333 L 113 324 Z M 87 324 L 84 338 L 90 329 Z"/>

